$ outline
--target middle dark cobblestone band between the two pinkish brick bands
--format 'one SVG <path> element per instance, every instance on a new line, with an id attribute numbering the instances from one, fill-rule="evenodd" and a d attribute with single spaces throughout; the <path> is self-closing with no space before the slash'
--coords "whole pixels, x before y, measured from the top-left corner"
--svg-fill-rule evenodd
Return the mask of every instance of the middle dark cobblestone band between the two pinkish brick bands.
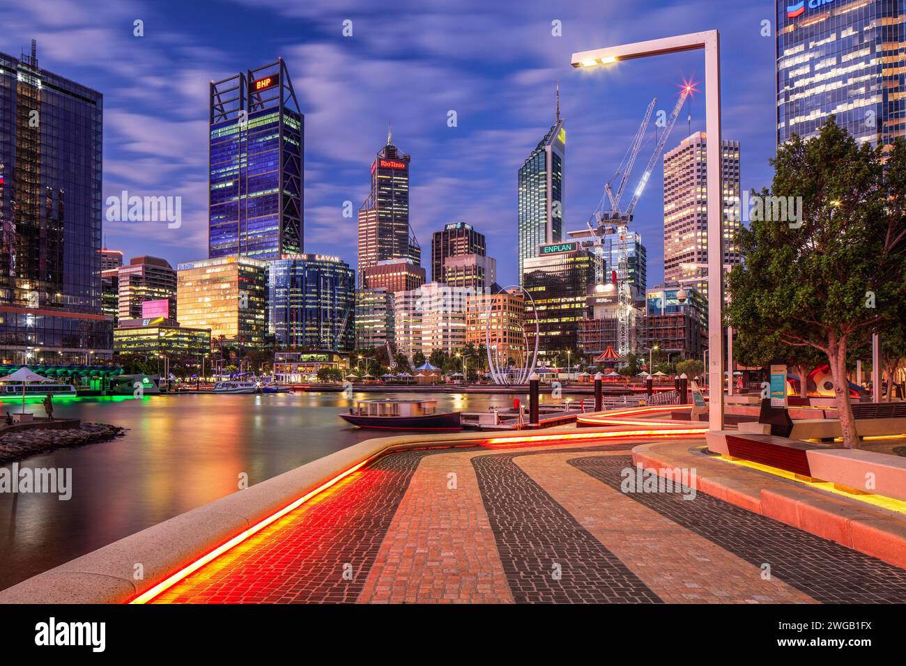
<path id="1" fill-rule="evenodd" d="M 573 449 L 575 451 L 585 449 Z M 506 453 L 472 458 L 516 603 L 660 603 Z"/>

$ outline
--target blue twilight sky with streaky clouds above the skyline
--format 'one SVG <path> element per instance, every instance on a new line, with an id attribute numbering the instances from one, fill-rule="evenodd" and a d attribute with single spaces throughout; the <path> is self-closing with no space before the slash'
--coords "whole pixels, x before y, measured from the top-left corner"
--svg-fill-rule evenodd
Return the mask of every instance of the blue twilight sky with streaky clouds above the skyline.
<path id="1" fill-rule="evenodd" d="M 43 68 L 104 94 L 103 197 L 178 195 L 183 223 L 104 223 L 107 246 L 173 265 L 207 256 L 207 93 L 282 56 L 305 114 L 304 247 L 355 265 L 358 208 L 392 123 L 412 156 L 412 226 L 430 234 L 467 221 L 487 235 L 498 281 L 516 280 L 516 173 L 554 121 L 559 78 L 566 121 L 565 227 L 584 226 L 652 97 L 668 113 L 683 79 L 701 82 L 700 53 L 577 71 L 573 52 L 718 28 L 724 136 L 741 142 L 743 188 L 770 179 L 775 146 L 775 43 L 770 0 L 37 0 L 0 5 L 0 51 L 38 40 Z M 133 21 L 145 36 L 133 36 Z M 342 24 L 352 21 L 352 37 Z M 562 23 L 562 36 L 552 22 Z M 773 28 L 771 28 L 773 31 Z M 702 87 L 702 86 L 699 86 Z M 458 127 L 447 124 L 448 111 Z M 704 129 L 703 95 L 667 150 Z M 630 188 L 655 140 L 636 164 Z M 659 160 L 636 208 L 648 281 L 663 275 Z M 629 197 L 624 198 L 624 204 Z M 423 260 L 422 264 L 429 262 Z"/>

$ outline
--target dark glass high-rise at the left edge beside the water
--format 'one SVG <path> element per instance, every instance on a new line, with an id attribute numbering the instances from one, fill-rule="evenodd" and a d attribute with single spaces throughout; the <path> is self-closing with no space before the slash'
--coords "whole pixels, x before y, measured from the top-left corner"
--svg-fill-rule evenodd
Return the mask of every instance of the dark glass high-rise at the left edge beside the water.
<path id="1" fill-rule="evenodd" d="M 0 53 L 0 360 L 110 358 L 101 312 L 103 95 Z"/>

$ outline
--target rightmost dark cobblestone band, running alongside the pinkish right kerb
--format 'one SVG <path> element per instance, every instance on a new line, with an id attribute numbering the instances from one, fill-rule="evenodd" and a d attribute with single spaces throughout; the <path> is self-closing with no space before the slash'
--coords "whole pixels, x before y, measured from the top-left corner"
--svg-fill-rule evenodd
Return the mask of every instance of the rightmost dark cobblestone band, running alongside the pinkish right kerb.
<path id="1" fill-rule="evenodd" d="M 621 470 L 632 465 L 630 457 L 586 457 L 568 462 L 617 491 Z M 701 492 L 693 500 L 684 500 L 678 493 L 630 493 L 625 497 L 751 565 L 770 565 L 772 577 L 819 602 L 906 602 L 906 571 L 773 518 Z"/>

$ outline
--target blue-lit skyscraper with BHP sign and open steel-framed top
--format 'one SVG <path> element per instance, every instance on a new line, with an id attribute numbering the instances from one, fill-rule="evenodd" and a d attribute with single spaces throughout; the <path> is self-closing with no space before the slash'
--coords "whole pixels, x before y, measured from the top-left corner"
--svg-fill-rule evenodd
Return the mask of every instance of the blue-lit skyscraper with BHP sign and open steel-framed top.
<path id="1" fill-rule="evenodd" d="M 207 254 L 303 251 L 304 116 L 282 59 L 210 85 Z"/>

